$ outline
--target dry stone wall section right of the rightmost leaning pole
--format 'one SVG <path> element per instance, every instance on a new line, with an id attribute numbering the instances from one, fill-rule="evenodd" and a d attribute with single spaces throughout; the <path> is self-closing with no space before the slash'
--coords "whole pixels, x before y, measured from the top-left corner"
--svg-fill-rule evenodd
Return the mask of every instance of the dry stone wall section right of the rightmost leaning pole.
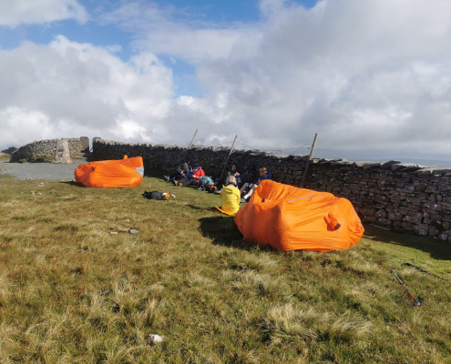
<path id="1" fill-rule="evenodd" d="M 308 188 L 348 198 L 363 221 L 451 242 L 451 170 L 320 160 Z"/>

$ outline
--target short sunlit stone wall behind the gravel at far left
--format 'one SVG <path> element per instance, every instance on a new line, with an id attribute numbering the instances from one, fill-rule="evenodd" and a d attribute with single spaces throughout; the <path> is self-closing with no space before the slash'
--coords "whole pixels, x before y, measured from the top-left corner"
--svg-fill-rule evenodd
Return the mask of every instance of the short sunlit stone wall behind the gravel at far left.
<path id="1" fill-rule="evenodd" d="M 89 148 L 89 141 L 87 141 L 86 147 L 85 136 L 65 138 L 69 146 L 70 157 L 77 157 L 79 153 L 82 153 Z M 87 139 L 87 138 L 86 138 Z M 54 161 L 56 157 L 56 147 L 58 141 L 61 139 L 48 139 L 39 140 L 27 144 L 24 147 L 20 147 L 11 155 L 11 162 L 17 162 L 21 159 L 25 159 L 27 162 L 44 162 Z"/>

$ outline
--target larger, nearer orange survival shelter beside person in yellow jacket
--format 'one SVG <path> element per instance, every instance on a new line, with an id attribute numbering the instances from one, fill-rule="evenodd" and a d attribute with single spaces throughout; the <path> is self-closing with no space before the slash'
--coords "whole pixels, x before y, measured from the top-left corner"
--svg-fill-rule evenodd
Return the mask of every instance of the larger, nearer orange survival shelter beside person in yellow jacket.
<path id="1" fill-rule="evenodd" d="M 244 240 L 283 251 L 347 249 L 364 234 L 346 198 L 271 180 L 261 181 L 235 223 Z"/>

